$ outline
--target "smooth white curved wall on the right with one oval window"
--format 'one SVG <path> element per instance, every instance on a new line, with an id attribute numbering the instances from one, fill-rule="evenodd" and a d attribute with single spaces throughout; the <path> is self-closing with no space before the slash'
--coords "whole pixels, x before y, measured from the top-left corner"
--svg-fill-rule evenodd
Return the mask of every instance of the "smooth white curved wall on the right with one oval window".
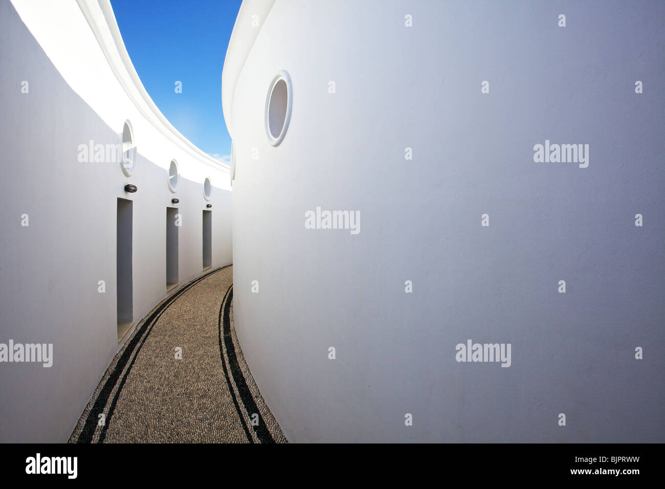
<path id="1" fill-rule="evenodd" d="M 665 441 L 664 9 L 277 0 L 223 96 L 235 327 L 289 440 Z M 360 232 L 307 229 L 317 207 Z"/>

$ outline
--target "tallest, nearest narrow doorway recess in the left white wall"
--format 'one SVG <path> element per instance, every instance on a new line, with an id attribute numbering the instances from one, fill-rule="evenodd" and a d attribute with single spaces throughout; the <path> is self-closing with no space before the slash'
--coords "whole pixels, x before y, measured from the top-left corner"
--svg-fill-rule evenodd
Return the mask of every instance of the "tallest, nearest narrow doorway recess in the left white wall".
<path id="1" fill-rule="evenodd" d="M 116 293 L 118 342 L 134 324 L 132 295 L 132 201 L 118 198 L 116 220 Z"/>

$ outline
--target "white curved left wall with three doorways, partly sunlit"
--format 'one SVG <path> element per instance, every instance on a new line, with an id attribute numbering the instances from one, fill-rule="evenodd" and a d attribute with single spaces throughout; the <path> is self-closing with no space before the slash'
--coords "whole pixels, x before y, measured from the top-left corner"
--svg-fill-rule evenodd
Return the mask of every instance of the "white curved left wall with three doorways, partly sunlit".
<path id="1" fill-rule="evenodd" d="M 80 7 L 0 2 L 0 343 L 53 343 L 50 368 L 0 364 L 2 442 L 65 442 L 120 348 L 118 198 L 133 202 L 135 324 L 167 294 L 167 207 L 182 216 L 180 285 L 203 272 L 206 204 L 212 204 L 212 266 L 231 262 L 229 170 L 142 98 L 145 90 L 124 64 L 109 12 L 104 0 L 81 1 Z M 79 158 L 79 146 L 91 140 L 119 144 L 125 120 L 137 150 L 132 176 L 119 162 Z M 180 183 L 172 193 L 168 167 L 174 158 Z M 209 201 L 203 197 L 206 177 L 213 184 Z M 124 192 L 126 184 L 138 192 Z M 28 226 L 22 226 L 24 214 Z M 104 293 L 98 291 L 102 280 Z"/>

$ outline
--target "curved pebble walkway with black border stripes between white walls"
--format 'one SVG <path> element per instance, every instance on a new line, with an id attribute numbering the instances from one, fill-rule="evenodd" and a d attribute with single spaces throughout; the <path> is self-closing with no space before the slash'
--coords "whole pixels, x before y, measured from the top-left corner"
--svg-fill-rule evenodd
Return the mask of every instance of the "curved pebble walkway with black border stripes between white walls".
<path id="1" fill-rule="evenodd" d="M 231 265 L 164 299 L 113 359 L 69 441 L 287 442 L 245 363 L 232 299 Z"/>

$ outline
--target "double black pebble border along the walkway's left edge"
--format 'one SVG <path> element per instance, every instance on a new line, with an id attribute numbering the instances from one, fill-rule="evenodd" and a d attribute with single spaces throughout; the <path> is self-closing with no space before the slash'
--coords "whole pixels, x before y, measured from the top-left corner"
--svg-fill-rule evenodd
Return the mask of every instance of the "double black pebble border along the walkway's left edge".
<path id="1" fill-rule="evenodd" d="M 148 337 L 148 334 L 150 334 L 150 330 L 152 330 L 152 326 L 154 326 L 154 323 L 156 323 L 156 321 L 161 317 L 162 313 L 164 313 L 164 311 L 166 311 L 166 309 L 176 299 L 178 299 L 180 295 L 182 295 L 184 292 L 194 287 L 194 285 L 199 283 L 201 280 L 205 279 L 205 277 L 208 277 L 213 273 L 217 273 L 217 271 L 223 270 L 227 267 L 230 267 L 231 265 L 232 263 L 229 263 L 229 265 L 225 265 L 223 267 L 219 267 L 215 270 L 209 271 L 208 273 L 205 273 L 204 275 L 201 275 L 200 277 L 197 277 L 196 279 L 190 281 L 190 283 L 188 283 L 187 285 L 184 285 L 184 287 L 176 291 L 176 293 L 174 293 L 171 297 L 168 297 L 166 301 L 162 303 L 162 305 L 160 305 L 157 309 L 155 309 L 155 311 L 150 315 L 150 317 L 148 317 L 148 319 L 144 321 L 143 325 L 141 326 L 138 332 L 136 331 L 134 332 L 134 335 L 132 336 L 130 343 L 125 348 L 120 359 L 118 359 L 116 367 L 114 368 L 113 372 L 108 376 L 108 379 L 106 379 L 104 387 L 102 387 L 102 390 L 97 396 L 97 399 L 94 401 L 94 405 L 92 405 L 92 408 L 90 408 L 90 412 L 88 412 L 88 418 L 86 419 L 86 422 L 83 428 L 81 429 L 80 434 L 78 435 L 76 443 L 92 443 L 92 438 L 94 438 L 94 433 L 97 428 L 96 413 L 103 412 L 104 407 L 106 407 L 106 404 L 108 403 L 108 398 L 110 397 L 114 387 L 118 383 L 120 375 L 122 375 L 122 371 L 124 370 L 125 366 L 129 363 L 127 371 L 122 376 L 122 380 L 120 381 L 120 386 L 118 387 L 118 390 L 114 395 L 112 405 L 108 411 L 108 414 L 106 415 L 106 423 L 104 423 L 104 426 L 102 426 L 102 431 L 100 432 L 99 435 L 98 443 L 102 443 L 104 441 L 104 437 L 106 436 L 106 430 L 108 430 L 108 425 L 110 424 L 110 418 L 113 414 L 113 410 L 116 404 L 118 403 L 118 397 L 120 397 L 120 391 L 122 391 L 122 387 L 124 386 L 124 383 L 129 375 L 129 372 L 132 369 L 132 365 L 134 365 L 134 360 L 136 360 L 136 355 L 138 355 L 138 352 L 140 351 L 141 347 L 146 341 L 146 337 Z M 144 335 L 144 333 L 146 334 Z M 140 341 L 141 338 L 142 341 Z M 136 355 L 134 355 L 134 357 L 132 358 L 132 355 L 134 353 L 136 353 Z"/>

